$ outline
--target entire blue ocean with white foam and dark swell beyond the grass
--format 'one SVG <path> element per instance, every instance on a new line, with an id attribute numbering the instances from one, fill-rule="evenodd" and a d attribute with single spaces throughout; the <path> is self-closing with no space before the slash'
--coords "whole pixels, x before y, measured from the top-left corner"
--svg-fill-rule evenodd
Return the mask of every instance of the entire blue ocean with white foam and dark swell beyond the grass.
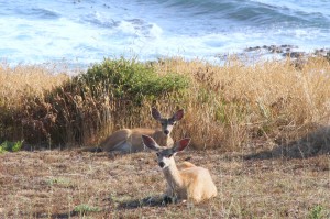
<path id="1" fill-rule="evenodd" d="M 0 0 L 0 61 L 213 61 L 249 47 L 330 47 L 330 0 Z"/>

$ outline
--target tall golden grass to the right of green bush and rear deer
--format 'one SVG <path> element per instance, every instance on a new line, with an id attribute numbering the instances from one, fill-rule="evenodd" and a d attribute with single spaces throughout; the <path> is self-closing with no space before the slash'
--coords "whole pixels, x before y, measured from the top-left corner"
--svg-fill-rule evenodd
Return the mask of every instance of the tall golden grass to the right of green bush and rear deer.
<path id="1" fill-rule="evenodd" d="M 166 61 L 160 72 L 191 77 L 187 117 L 180 135 L 198 147 L 240 149 L 262 139 L 287 143 L 318 125 L 327 125 L 330 109 L 330 65 L 309 58 L 299 67 L 290 59 L 224 66 Z"/>

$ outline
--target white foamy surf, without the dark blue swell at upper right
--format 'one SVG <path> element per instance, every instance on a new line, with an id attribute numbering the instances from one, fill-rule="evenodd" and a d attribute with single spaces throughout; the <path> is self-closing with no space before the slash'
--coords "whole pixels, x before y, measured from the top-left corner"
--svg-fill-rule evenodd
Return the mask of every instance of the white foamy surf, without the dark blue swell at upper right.
<path id="1" fill-rule="evenodd" d="M 300 7 L 305 11 L 323 7 L 321 12 L 324 14 L 329 14 L 324 10 L 327 8 L 326 1 L 316 1 L 320 3 L 317 9 L 307 7 L 317 4 L 311 0 L 299 3 L 294 0 L 254 1 L 297 10 Z M 176 55 L 208 59 L 218 54 L 241 53 L 249 46 L 293 44 L 311 50 L 330 45 L 330 31 L 326 28 L 300 24 L 285 28 L 285 22 L 260 28 L 222 19 L 221 14 L 218 18 L 215 13 L 212 17 L 204 14 L 201 20 L 150 2 L 123 0 L 111 6 L 106 0 L 80 3 L 32 0 L 29 6 L 37 4 L 40 9 L 52 9 L 57 14 L 45 19 L 23 17 L 15 9 L 25 10 L 24 1 L 9 1 L 6 10 L 0 8 L 0 59 L 41 63 L 65 58 L 82 64 L 121 55 L 142 59 Z"/>

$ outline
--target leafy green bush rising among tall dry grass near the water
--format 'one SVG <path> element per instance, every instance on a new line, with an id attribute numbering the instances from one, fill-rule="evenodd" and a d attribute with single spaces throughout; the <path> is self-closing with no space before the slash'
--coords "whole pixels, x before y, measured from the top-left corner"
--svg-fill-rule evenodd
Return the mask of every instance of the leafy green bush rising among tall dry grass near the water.
<path id="1" fill-rule="evenodd" d="M 151 65 L 124 58 L 106 58 L 75 80 L 84 92 L 90 90 L 94 97 L 107 94 L 138 105 L 143 99 L 153 100 L 169 92 L 183 91 L 189 83 L 187 77 L 179 74 L 160 76 Z"/>

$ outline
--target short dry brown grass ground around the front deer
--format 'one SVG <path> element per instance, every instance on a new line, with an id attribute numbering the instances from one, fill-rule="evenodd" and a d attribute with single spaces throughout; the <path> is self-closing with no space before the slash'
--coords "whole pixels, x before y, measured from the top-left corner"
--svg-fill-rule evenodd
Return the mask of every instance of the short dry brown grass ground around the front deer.
<path id="1" fill-rule="evenodd" d="M 210 169 L 219 195 L 163 205 L 155 155 L 38 151 L 0 155 L 0 218 L 329 218 L 330 157 L 244 158 L 188 151 L 176 161 Z"/>

